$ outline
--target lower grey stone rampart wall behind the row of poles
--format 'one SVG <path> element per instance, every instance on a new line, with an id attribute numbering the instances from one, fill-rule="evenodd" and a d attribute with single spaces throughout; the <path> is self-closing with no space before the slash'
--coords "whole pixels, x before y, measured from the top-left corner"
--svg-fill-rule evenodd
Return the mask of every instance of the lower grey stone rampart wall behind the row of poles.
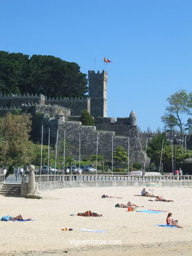
<path id="1" fill-rule="evenodd" d="M 48 127 L 51 130 L 51 143 L 56 143 L 56 132 L 58 129 L 58 148 L 63 150 L 64 132 L 66 132 L 66 143 L 72 145 L 66 156 L 73 156 L 79 160 L 79 134 L 81 137 L 81 159 L 96 154 L 96 141 L 98 136 L 98 154 L 104 156 L 106 161 L 111 161 L 111 148 L 113 136 L 113 152 L 117 146 L 123 146 L 128 151 L 128 137 L 115 136 L 113 131 L 97 131 L 94 126 L 83 126 L 78 121 L 65 121 L 64 117 L 56 116 L 56 119 L 44 119 L 43 142 L 48 142 Z M 136 131 L 135 131 L 136 132 Z M 140 140 L 135 133 L 129 139 L 130 143 L 130 164 L 136 161 L 144 163 L 145 154 L 141 150 Z M 149 159 L 147 158 L 149 162 Z M 147 165 L 148 163 L 146 163 Z"/>

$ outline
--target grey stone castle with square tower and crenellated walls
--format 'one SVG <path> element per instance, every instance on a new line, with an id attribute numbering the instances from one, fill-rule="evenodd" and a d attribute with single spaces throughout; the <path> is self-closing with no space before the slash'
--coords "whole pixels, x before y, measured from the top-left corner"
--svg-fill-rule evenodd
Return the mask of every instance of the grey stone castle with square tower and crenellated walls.
<path id="1" fill-rule="evenodd" d="M 50 141 L 56 142 L 58 132 L 58 148 L 62 151 L 64 134 L 71 145 L 69 154 L 79 157 L 79 138 L 81 137 L 81 158 L 96 154 L 98 139 L 98 154 L 111 161 L 111 140 L 113 148 L 123 146 L 130 149 L 130 165 L 139 161 L 142 166 L 149 164 L 149 158 L 142 150 L 136 123 L 136 113 L 130 112 L 129 117 L 107 117 L 107 72 L 88 71 L 88 97 L 86 98 L 47 98 L 44 95 L 2 95 L 0 93 L 0 116 L 15 110 L 30 110 L 41 113 L 41 124 L 44 127 L 43 143 L 48 143 L 48 128 Z M 94 117 L 94 126 L 81 124 L 80 116 L 87 110 Z M 113 151 L 114 151 L 113 150 Z"/>

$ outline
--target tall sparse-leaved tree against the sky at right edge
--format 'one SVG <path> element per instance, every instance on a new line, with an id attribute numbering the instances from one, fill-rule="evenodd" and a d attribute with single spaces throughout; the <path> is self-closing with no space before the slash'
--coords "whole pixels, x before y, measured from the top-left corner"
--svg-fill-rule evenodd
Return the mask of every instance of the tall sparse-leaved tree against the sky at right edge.
<path id="1" fill-rule="evenodd" d="M 169 127 L 179 127 L 183 134 L 182 114 L 191 114 L 192 93 L 187 94 L 185 90 L 178 91 L 167 98 L 169 106 L 166 107 L 166 113 L 161 117 L 165 125 Z"/>

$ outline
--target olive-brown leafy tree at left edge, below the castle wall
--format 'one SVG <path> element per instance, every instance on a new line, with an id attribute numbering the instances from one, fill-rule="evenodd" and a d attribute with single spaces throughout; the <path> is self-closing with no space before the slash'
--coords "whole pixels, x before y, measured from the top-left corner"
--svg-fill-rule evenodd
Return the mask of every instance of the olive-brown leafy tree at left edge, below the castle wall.
<path id="1" fill-rule="evenodd" d="M 15 166 L 29 163 L 33 156 L 33 144 L 29 141 L 30 116 L 7 114 L 1 119 L 1 165 Z"/>

